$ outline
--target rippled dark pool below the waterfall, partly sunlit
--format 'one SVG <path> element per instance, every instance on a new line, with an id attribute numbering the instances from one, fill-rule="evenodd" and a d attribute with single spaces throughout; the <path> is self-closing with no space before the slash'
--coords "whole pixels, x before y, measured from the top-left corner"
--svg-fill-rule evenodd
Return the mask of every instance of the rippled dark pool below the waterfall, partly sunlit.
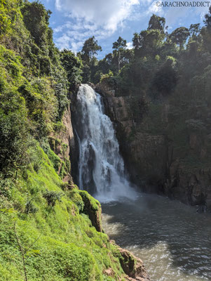
<path id="1" fill-rule="evenodd" d="M 152 280 L 211 280 L 211 214 L 156 195 L 102 211 L 110 239 L 141 258 Z"/>

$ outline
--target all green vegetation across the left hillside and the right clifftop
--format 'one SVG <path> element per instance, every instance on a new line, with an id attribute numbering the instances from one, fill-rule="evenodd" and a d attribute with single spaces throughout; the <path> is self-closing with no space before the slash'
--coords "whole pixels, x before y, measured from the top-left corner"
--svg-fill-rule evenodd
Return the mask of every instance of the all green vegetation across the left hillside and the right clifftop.
<path id="1" fill-rule="evenodd" d="M 59 51 L 50 13 L 39 1 L 0 0 L 0 280 L 118 280 L 124 274 L 118 249 L 88 216 L 87 202 L 93 214 L 100 204 L 62 181 L 71 164 L 55 154 L 52 139 L 67 150 L 57 136 L 81 82 L 106 79 L 118 93 L 134 95 L 137 119 L 149 98 L 177 91 L 172 97 L 186 100 L 181 89 L 198 106 L 210 103 L 210 14 L 204 27 L 171 34 L 153 15 L 147 30 L 134 34 L 131 50 L 119 37 L 113 53 L 97 60 L 95 37 L 77 55 Z"/>

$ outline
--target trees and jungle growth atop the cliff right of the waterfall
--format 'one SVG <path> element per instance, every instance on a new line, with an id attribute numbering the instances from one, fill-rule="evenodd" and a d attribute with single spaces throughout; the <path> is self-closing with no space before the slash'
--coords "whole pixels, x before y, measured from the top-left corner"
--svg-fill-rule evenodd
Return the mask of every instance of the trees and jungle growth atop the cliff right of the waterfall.
<path id="1" fill-rule="evenodd" d="M 169 96 L 177 84 L 180 89 L 189 84 L 187 91 L 196 89 L 199 84 L 201 87 L 210 74 L 210 13 L 211 7 L 203 27 L 194 23 L 171 33 L 165 26 L 165 18 L 152 15 L 147 30 L 134 34 L 131 50 L 119 37 L 113 44 L 114 51 L 102 60 L 95 57 L 101 47 L 95 37 L 91 37 L 78 53 L 83 60 L 83 81 L 97 84 L 107 79 L 121 95 L 148 95 L 154 99 Z M 206 92 L 209 86 L 200 89 Z"/>

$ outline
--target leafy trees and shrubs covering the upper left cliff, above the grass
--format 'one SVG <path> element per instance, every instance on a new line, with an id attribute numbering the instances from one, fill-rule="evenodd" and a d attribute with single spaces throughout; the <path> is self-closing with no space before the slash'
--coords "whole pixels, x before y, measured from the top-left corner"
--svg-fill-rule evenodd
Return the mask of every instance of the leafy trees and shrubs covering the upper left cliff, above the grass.
<path id="1" fill-rule="evenodd" d="M 39 1 L 4 0 L 0 4 L 4 20 L 0 25 L 0 171 L 10 174 L 27 164 L 32 138 L 42 143 L 50 133 L 62 129 L 57 125 L 62 124 L 69 104 L 69 84 L 81 82 L 81 62 L 68 53 L 71 65 L 64 70 L 63 55 L 55 48 L 48 27 L 50 11 Z M 67 174 L 68 161 L 61 164 L 53 159 L 57 171 L 61 164 L 61 176 Z M 38 170 L 39 165 L 34 165 Z"/>

